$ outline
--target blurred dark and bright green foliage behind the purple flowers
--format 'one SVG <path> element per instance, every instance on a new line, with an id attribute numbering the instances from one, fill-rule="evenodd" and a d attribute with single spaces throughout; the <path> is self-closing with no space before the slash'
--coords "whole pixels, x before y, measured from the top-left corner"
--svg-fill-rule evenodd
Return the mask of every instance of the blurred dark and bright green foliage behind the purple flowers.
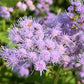
<path id="1" fill-rule="evenodd" d="M 16 24 L 16 20 L 24 15 L 35 16 L 34 12 L 28 9 L 24 12 L 15 8 L 18 1 L 19 0 L 0 0 L 1 6 L 14 8 L 11 19 L 5 20 L 0 17 L 0 49 L 2 45 L 5 46 L 8 44 L 8 28 L 11 24 Z M 33 1 L 34 4 L 36 4 L 37 0 Z M 64 12 L 69 5 L 69 0 L 54 0 L 53 4 L 50 6 L 50 10 L 55 14 L 59 14 L 60 12 Z M 39 16 L 42 15 L 43 14 L 40 14 Z M 45 72 L 42 76 L 40 76 L 39 72 L 34 72 L 27 78 L 19 77 L 17 73 L 11 71 L 10 67 L 6 67 L 5 62 L 0 59 L 0 84 L 53 84 L 54 78 L 55 77 L 50 72 Z M 75 72 L 62 73 L 58 84 L 77 84 Z"/>

